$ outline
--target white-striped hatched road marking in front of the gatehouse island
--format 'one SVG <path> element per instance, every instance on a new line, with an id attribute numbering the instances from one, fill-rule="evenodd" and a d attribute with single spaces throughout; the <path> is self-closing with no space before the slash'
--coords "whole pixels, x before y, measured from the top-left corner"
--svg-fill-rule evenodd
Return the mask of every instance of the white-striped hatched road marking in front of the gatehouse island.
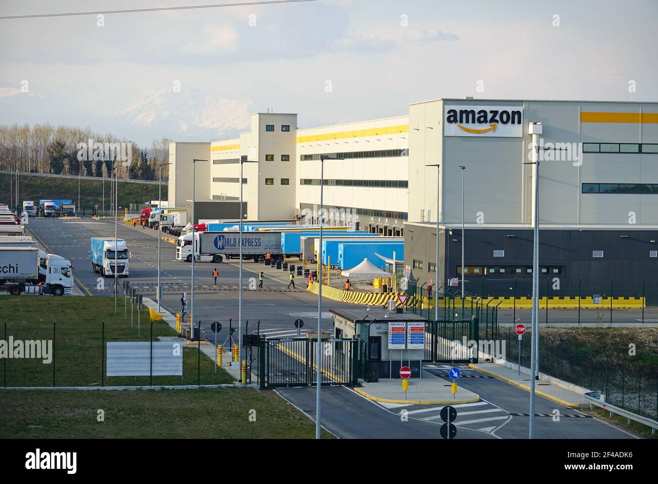
<path id="1" fill-rule="evenodd" d="M 445 405 L 407 405 L 398 403 L 378 402 L 384 408 L 391 410 L 401 417 L 442 423 L 441 410 Z M 451 405 L 457 410 L 457 427 L 490 433 L 512 417 L 501 408 L 489 402 L 473 402 L 467 404 Z"/>

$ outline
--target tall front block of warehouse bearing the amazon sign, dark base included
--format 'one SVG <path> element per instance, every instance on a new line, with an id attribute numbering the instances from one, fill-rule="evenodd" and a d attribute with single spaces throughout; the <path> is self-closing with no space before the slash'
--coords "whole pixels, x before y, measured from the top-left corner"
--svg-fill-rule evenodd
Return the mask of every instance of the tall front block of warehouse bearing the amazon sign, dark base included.
<path id="1" fill-rule="evenodd" d="M 532 126 L 540 126 L 542 296 L 639 296 L 647 278 L 646 297 L 658 302 L 648 284 L 658 279 L 658 103 L 411 104 L 407 275 L 437 284 L 438 219 L 436 286 L 461 289 L 463 213 L 465 290 L 530 295 L 530 123 L 541 123 Z"/>

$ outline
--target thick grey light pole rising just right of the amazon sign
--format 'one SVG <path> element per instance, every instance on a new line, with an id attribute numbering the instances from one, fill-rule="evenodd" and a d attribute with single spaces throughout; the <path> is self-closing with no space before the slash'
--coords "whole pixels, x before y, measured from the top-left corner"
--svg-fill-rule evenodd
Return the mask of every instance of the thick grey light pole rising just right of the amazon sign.
<path id="1" fill-rule="evenodd" d="M 532 339 L 530 340 L 530 425 L 528 438 L 534 439 L 534 412 L 535 412 L 535 381 L 538 379 L 538 355 L 539 355 L 539 135 L 542 134 L 541 122 L 528 123 L 528 134 L 532 134 L 532 160 L 524 165 L 532 166 L 532 202 L 534 215 L 534 244 L 532 249 Z M 547 303 L 548 304 L 548 299 Z"/>

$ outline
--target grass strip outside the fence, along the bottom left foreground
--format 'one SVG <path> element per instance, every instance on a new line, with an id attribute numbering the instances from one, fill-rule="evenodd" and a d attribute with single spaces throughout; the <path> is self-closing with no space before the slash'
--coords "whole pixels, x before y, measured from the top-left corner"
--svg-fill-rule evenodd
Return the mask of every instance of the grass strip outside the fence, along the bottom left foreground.
<path id="1" fill-rule="evenodd" d="M 315 437 L 314 421 L 274 392 L 255 389 L 0 390 L 0 401 L 0 438 Z M 97 421 L 98 410 L 105 421 Z"/>

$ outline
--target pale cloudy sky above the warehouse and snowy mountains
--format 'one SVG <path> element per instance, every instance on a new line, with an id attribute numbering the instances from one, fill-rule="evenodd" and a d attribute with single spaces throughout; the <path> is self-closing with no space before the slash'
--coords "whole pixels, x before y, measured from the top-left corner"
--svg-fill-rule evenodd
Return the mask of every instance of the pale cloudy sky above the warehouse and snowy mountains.
<path id="1" fill-rule="evenodd" d="M 213 1 L 2 0 L 0 16 Z M 150 144 L 234 137 L 268 107 L 306 128 L 438 97 L 658 101 L 657 18 L 655 0 L 321 0 L 2 19 L 0 124 Z"/>

